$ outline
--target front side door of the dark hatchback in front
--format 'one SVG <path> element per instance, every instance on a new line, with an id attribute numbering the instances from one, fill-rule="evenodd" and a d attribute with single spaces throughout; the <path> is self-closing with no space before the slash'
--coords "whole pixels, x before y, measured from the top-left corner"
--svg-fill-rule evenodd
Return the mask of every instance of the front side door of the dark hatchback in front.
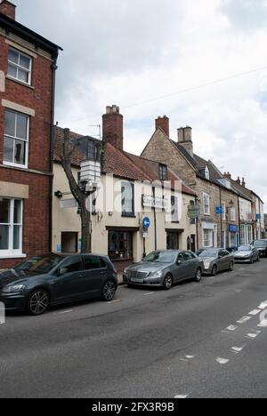
<path id="1" fill-rule="evenodd" d="M 64 269 L 64 274 L 61 270 Z M 83 274 L 81 255 L 71 256 L 64 260 L 53 275 L 53 302 L 61 303 L 77 300 L 80 293 L 80 281 Z"/>

